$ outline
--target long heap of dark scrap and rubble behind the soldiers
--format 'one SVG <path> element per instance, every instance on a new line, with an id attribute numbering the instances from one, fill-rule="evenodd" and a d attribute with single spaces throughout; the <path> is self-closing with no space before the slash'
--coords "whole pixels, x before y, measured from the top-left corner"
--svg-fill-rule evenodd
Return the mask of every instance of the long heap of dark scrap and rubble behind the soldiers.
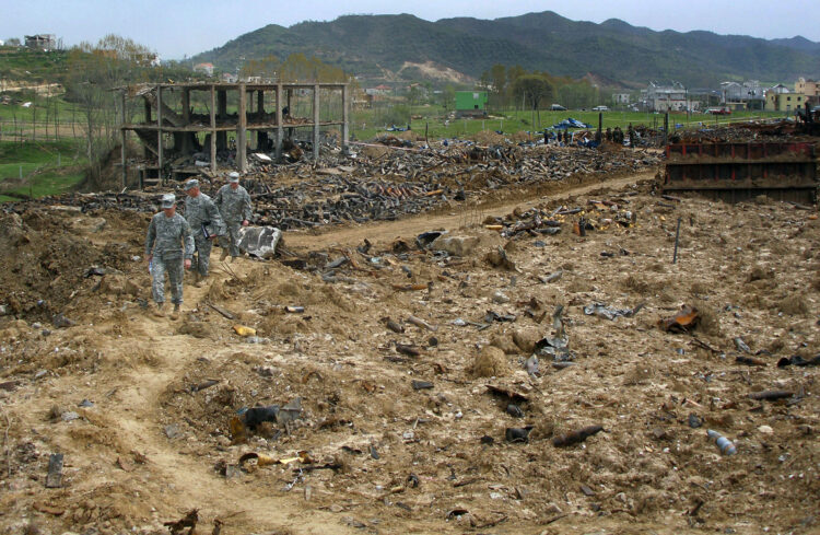
<path id="1" fill-rule="evenodd" d="M 396 220 L 452 202 L 476 201 L 514 186 L 640 172 L 660 162 L 655 151 L 479 147 L 471 142 L 450 144 L 441 151 L 363 151 L 355 158 L 337 152 L 323 156 L 318 165 L 298 162 L 251 167 L 242 184 L 251 194 L 256 222 L 290 230 Z M 221 175 L 206 177 L 202 190 L 215 195 L 224 181 Z M 179 189 L 178 185 L 175 188 Z M 152 212 L 156 211 L 160 191 L 167 189 L 67 194 L 34 205 L 60 203 L 84 212 L 103 208 Z M 5 203 L 3 210 L 20 212 L 31 206 Z"/>

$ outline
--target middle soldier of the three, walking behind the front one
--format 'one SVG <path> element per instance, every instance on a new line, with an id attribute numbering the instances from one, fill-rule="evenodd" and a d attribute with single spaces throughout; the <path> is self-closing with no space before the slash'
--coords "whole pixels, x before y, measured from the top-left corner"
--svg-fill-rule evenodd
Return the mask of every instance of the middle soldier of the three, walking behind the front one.
<path id="1" fill-rule="evenodd" d="M 208 277 L 213 240 L 225 233 L 222 216 L 210 197 L 199 190 L 199 181 L 191 178 L 185 183 L 185 219 L 188 220 L 194 243 L 197 247 L 194 286 L 199 288 Z"/>

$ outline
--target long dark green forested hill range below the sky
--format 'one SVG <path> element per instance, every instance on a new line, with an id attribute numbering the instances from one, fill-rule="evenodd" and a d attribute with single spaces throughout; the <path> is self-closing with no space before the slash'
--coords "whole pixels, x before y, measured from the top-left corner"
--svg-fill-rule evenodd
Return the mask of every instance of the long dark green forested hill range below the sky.
<path id="1" fill-rule="evenodd" d="M 364 78 L 383 78 L 406 61 L 431 61 L 473 78 L 494 63 L 555 75 L 586 73 L 624 85 L 675 79 L 714 85 L 727 79 L 792 81 L 820 75 L 820 44 L 803 37 L 765 40 L 710 32 L 655 32 L 623 21 L 575 22 L 555 13 L 492 21 L 427 22 L 413 15 L 347 15 L 332 22 L 268 25 L 192 62 L 233 71 L 241 62 L 302 53 Z"/>

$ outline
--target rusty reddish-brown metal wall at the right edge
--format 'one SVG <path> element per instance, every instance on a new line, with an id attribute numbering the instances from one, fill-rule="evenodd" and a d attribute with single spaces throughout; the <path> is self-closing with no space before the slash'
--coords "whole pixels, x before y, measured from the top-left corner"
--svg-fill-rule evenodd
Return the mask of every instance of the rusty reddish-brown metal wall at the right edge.
<path id="1" fill-rule="evenodd" d="M 810 142 L 675 143 L 666 148 L 665 193 L 696 191 L 738 202 L 766 195 L 817 201 L 817 158 Z"/>

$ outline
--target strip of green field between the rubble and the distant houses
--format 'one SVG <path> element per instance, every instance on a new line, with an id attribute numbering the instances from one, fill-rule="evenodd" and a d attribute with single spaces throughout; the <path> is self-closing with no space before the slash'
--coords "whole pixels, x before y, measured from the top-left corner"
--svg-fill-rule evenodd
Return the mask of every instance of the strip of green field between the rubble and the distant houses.
<path id="1" fill-rule="evenodd" d="M 485 118 L 479 119 L 450 119 L 447 120 L 447 113 L 437 106 L 418 106 L 412 108 L 413 116 L 421 116 L 421 119 L 411 120 L 410 125 L 417 132 L 424 132 L 425 124 L 430 138 L 454 138 L 471 136 L 482 130 L 501 130 L 504 133 L 518 131 L 543 131 L 563 119 L 572 117 L 581 120 L 594 128 L 598 127 L 598 112 L 583 112 L 569 109 L 566 112 L 542 111 L 540 113 L 540 124 L 536 117 L 536 125 L 532 124 L 531 112 L 504 112 L 490 114 Z M 750 120 L 752 118 L 773 118 L 784 117 L 783 113 L 774 112 L 735 112 L 729 116 L 713 116 L 706 114 L 672 114 L 669 116 L 670 129 L 680 128 L 708 128 L 715 125 L 726 125 L 728 123 L 738 123 Z M 376 111 L 361 111 L 353 114 L 351 132 L 358 139 L 372 139 L 379 133 L 385 132 L 385 125 L 377 124 Z M 626 127 L 644 125 L 652 128 L 660 128 L 664 125 L 663 114 L 651 114 L 645 112 L 604 112 L 604 129 L 621 127 L 624 131 Z M 387 125 L 389 126 L 389 125 Z M 406 127 L 407 125 L 396 125 Z"/>

